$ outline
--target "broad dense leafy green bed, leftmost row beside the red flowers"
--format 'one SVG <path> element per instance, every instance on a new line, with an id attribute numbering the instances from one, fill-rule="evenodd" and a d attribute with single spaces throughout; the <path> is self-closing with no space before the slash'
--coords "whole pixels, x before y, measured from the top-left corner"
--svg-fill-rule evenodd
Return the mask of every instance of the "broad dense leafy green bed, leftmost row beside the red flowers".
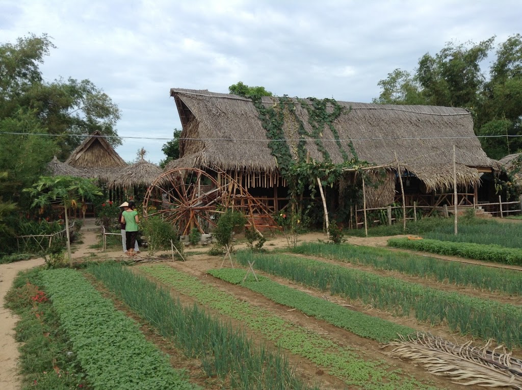
<path id="1" fill-rule="evenodd" d="M 42 271 L 42 280 L 94 390 L 198 388 L 78 271 Z"/>

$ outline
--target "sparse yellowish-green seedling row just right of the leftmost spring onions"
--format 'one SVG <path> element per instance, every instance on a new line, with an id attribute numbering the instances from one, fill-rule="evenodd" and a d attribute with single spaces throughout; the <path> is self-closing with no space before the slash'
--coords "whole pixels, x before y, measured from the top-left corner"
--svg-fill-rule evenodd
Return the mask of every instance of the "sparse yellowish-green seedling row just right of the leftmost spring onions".
<path id="1" fill-rule="evenodd" d="M 140 270 L 157 278 L 177 292 L 194 297 L 198 303 L 234 318 L 248 329 L 275 342 L 276 346 L 310 359 L 326 368 L 349 386 L 367 390 L 423 389 L 425 385 L 400 375 L 384 361 L 363 359 L 346 346 L 339 346 L 309 329 L 283 320 L 273 312 L 236 299 L 231 293 L 217 289 L 164 265 L 141 266 Z M 274 388 L 274 387 L 267 387 Z"/>

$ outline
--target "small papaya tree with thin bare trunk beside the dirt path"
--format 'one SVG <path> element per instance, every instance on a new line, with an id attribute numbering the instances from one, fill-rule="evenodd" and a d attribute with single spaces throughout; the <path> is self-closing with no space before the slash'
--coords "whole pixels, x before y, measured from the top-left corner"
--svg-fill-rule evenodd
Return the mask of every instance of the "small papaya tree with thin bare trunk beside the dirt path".
<path id="1" fill-rule="evenodd" d="M 64 206 L 65 231 L 67 235 L 67 254 L 69 265 L 73 266 L 73 257 L 70 251 L 69 217 L 68 211 L 76 207 L 79 202 L 93 200 L 95 195 L 102 195 L 98 186 L 93 184 L 93 179 L 73 178 L 72 176 L 54 176 L 52 178 L 42 176 L 40 180 L 30 188 L 23 191 L 28 192 L 34 202 L 32 207 L 44 207 L 52 200 L 60 200 Z"/>

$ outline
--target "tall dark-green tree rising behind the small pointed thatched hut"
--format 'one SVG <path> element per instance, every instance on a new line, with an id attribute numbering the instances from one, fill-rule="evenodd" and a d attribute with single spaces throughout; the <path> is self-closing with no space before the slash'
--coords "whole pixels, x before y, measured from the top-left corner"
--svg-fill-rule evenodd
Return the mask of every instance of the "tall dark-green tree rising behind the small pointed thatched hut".
<path id="1" fill-rule="evenodd" d="M 40 64 L 54 48 L 46 34 L 0 44 L 0 121 L 20 110 L 34 116 L 39 133 L 59 135 L 53 142 L 62 159 L 80 144 L 77 135 L 95 130 L 114 136 L 108 139 L 113 146 L 121 145 L 115 130 L 120 110 L 106 93 L 87 79 L 44 81 Z"/>

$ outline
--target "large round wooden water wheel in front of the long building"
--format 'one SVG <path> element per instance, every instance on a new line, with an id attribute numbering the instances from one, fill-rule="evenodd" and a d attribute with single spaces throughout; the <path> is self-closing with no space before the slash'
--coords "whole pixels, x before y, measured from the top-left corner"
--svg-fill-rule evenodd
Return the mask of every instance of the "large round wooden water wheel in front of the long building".
<path id="1" fill-rule="evenodd" d="M 254 229 L 278 228 L 264 204 L 224 172 L 177 168 L 161 174 L 148 188 L 144 216 L 160 216 L 178 227 L 181 235 L 193 228 L 208 233 L 219 214 L 234 208 Z"/>

